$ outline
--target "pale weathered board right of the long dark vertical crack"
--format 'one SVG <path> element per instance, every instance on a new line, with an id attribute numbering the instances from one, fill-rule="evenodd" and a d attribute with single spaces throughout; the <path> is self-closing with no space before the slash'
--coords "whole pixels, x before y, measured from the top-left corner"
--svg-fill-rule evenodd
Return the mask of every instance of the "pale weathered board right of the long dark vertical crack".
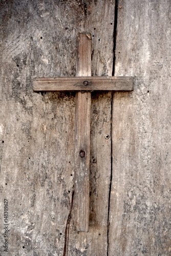
<path id="1" fill-rule="evenodd" d="M 119 1 L 115 75 L 135 84 L 113 98 L 110 256 L 171 253 L 170 8 Z"/>

